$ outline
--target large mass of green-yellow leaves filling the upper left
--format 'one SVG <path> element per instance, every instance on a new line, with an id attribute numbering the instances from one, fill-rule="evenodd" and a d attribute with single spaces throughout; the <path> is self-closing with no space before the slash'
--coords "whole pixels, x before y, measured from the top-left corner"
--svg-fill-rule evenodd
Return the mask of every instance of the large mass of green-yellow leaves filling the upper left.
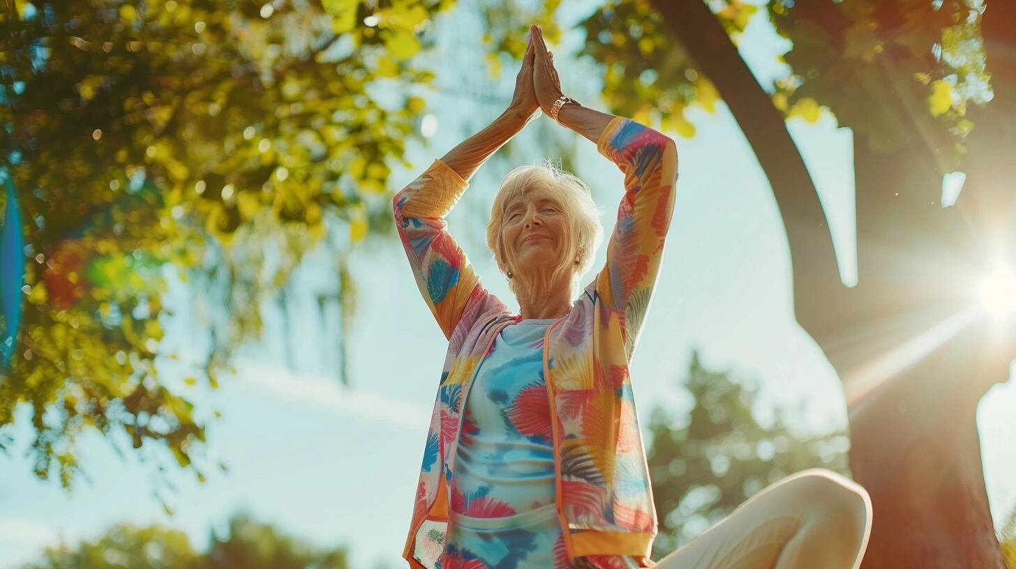
<path id="1" fill-rule="evenodd" d="M 390 229 L 385 200 L 384 213 L 368 205 L 388 163 L 405 164 L 424 100 L 375 93 L 430 83 L 410 58 L 450 5 L 4 4 L 0 167 L 18 188 L 26 284 L 0 428 L 30 405 L 39 477 L 69 488 L 75 438 L 94 428 L 169 449 L 202 478 L 205 422 L 156 366 L 178 356 L 161 343 L 167 275 L 207 293 L 198 314 L 218 313 L 194 373 L 214 387 L 303 253 L 338 231 L 356 244 Z"/>

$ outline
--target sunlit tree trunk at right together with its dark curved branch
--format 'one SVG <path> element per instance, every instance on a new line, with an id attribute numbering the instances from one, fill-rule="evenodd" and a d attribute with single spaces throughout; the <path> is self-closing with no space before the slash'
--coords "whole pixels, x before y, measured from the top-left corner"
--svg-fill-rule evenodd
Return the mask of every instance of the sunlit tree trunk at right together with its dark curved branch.
<path id="1" fill-rule="evenodd" d="M 860 283 L 845 290 L 804 161 L 722 26 L 701 0 L 655 6 L 716 85 L 779 203 L 797 318 L 843 381 L 850 466 L 872 496 L 864 567 L 1004 569 L 975 410 L 1008 377 L 1010 344 L 964 299 L 971 232 L 941 207 L 941 181 L 911 150 L 920 145 L 891 156 L 856 145 Z"/>

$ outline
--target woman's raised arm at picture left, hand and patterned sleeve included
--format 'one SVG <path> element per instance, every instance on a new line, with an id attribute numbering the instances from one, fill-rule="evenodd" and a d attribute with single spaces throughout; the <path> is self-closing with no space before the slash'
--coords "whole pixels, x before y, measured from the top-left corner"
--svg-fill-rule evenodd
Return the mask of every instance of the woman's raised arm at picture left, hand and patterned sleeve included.
<path id="1" fill-rule="evenodd" d="M 445 216 L 472 174 L 538 114 L 532 96 L 532 50 L 526 51 L 508 110 L 427 169 L 392 198 L 395 229 L 417 287 L 445 337 L 470 306 L 487 297 L 465 253 L 448 233 Z"/>

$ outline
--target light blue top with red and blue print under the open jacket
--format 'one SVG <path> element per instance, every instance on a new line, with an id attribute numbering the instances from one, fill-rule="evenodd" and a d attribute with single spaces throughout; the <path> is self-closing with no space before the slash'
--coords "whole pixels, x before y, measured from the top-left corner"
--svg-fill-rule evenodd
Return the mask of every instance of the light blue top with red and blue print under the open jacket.
<path id="1" fill-rule="evenodd" d="M 544 333 L 555 320 L 506 326 L 480 364 L 463 409 L 451 523 L 439 568 L 478 562 L 506 569 L 569 567 L 555 507 L 544 383 Z M 638 567 L 628 557 L 617 561 Z"/>

